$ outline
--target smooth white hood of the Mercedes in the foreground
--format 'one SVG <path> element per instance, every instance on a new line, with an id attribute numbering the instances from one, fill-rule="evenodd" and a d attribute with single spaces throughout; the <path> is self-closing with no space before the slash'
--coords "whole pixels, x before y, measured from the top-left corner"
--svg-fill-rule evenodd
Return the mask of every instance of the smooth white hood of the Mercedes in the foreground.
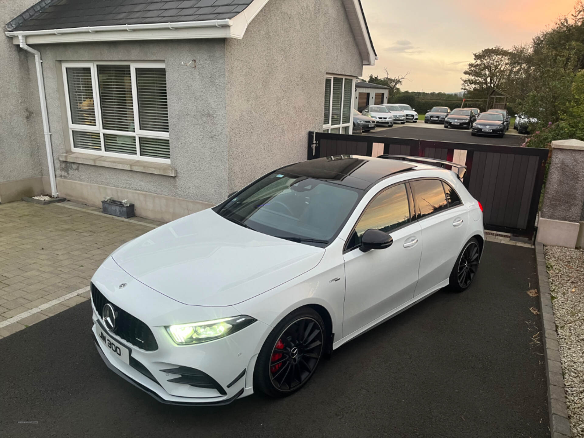
<path id="1" fill-rule="evenodd" d="M 324 248 L 249 230 L 203 210 L 121 246 L 114 261 L 159 293 L 189 305 L 249 300 L 318 265 Z"/>

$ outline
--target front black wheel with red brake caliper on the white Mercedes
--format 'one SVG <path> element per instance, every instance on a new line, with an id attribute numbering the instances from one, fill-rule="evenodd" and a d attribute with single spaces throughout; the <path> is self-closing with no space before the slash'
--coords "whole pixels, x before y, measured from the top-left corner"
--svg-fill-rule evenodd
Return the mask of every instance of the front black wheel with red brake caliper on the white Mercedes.
<path id="1" fill-rule="evenodd" d="M 286 397 L 300 390 L 325 355 L 327 336 L 324 321 L 313 308 L 300 307 L 286 315 L 260 349 L 253 369 L 254 391 Z"/>

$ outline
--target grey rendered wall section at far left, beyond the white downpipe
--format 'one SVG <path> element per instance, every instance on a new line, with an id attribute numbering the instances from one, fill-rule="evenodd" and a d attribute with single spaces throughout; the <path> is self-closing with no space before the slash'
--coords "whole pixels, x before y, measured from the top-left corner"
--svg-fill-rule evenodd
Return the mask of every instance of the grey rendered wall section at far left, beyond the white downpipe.
<path id="1" fill-rule="evenodd" d="M 0 0 L 0 23 L 9 22 L 36 0 Z M 27 53 L 0 37 L 0 202 L 40 194 L 39 152 L 44 151 L 34 62 Z M 33 57 L 34 61 L 34 57 Z"/>

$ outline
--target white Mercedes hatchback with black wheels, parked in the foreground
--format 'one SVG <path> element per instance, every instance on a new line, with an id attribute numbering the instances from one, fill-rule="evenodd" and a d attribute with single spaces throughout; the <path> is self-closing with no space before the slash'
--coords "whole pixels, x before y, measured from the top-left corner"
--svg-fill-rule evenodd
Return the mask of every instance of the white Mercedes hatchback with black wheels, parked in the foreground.
<path id="1" fill-rule="evenodd" d="M 108 256 L 91 280 L 93 342 L 164 403 L 284 397 L 333 349 L 470 287 L 482 224 L 447 169 L 354 155 L 284 166 Z"/>

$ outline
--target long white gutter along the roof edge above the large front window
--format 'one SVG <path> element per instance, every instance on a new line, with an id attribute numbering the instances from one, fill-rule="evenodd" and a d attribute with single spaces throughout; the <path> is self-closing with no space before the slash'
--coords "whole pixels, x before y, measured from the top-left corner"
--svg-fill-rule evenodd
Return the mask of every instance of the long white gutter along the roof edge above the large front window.
<path id="1" fill-rule="evenodd" d="M 120 30 L 154 30 L 154 29 L 193 29 L 195 27 L 228 27 L 233 23 L 229 19 L 205 20 L 205 21 L 185 21 L 178 23 L 151 23 L 145 25 L 115 25 L 115 26 L 86 26 L 86 27 L 66 27 L 65 29 L 44 29 L 44 30 L 20 30 L 16 32 L 5 32 L 9 37 L 34 36 L 34 35 L 62 35 L 65 33 L 95 33 L 95 32 L 117 32 Z M 22 47 L 22 46 L 20 46 Z M 26 49 L 25 49 L 26 50 Z"/>

